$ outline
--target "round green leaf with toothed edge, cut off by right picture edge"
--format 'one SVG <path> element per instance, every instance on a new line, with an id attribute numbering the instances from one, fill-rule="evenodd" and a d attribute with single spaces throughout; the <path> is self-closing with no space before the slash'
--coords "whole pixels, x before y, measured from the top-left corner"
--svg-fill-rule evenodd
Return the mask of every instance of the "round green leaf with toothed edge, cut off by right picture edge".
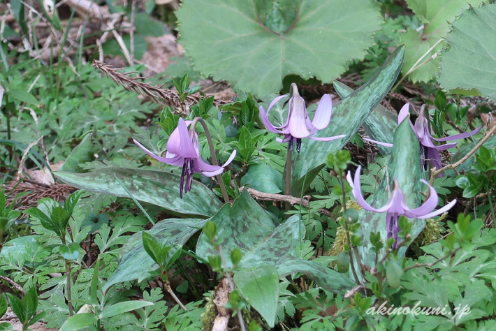
<path id="1" fill-rule="evenodd" d="M 477 89 L 496 100 L 496 4 L 470 8 L 453 22 L 440 62 L 446 89 Z"/>

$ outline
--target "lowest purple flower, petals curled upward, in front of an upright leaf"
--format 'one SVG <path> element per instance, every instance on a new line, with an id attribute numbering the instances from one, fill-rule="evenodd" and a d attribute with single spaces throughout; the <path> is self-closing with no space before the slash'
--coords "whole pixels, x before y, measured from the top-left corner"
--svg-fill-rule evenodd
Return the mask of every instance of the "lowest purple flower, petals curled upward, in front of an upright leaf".
<path id="1" fill-rule="evenodd" d="M 388 203 L 381 208 L 374 208 L 365 201 L 362 195 L 362 190 L 360 188 L 360 170 L 361 165 L 358 165 L 358 168 L 355 172 L 355 178 L 351 179 L 351 173 L 348 172 L 347 181 L 351 186 L 351 193 L 356 199 L 358 205 L 360 205 L 363 209 L 369 210 L 371 212 L 384 213 L 386 212 L 386 229 L 388 232 L 388 239 L 393 237 L 395 238 L 395 243 L 393 244 L 393 249 L 396 248 L 398 242 L 397 234 L 400 232 L 400 225 L 398 224 L 398 219 L 400 216 L 406 216 L 409 219 L 430 219 L 432 216 L 437 216 L 446 212 L 448 209 L 451 209 L 456 203 L 456 199 L 451 201 L 442 208 L 433 211 L 437 206 L 438 198 L 437 192 L 434 187 L 430 186 L 428 182 L 421 179 L 423 184 L 429 186 L 430 196 L 425 203 L 421 205 L 421 207 L 410 209 L 407 205 L 406 200 L 404 199 L 404 194 L 401 191 L 400 184 L 397 179 L 394 179 L 394 187 L 393 191 L 389 196 Z"/>

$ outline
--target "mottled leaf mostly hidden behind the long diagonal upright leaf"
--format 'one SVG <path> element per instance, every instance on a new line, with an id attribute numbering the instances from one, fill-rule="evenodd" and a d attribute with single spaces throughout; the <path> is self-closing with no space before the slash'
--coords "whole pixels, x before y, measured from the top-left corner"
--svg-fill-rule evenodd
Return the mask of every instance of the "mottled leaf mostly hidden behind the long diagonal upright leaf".
<path id="1" fill-rule="evenodd" d="M 337 94 L 339 94 L 341 98 L 346 98 L 353 92 L 351 87 L 347 87 L 347 85 L 342 82 L 335 80 L 333 84 Z M 393 135 L 397 128 L 397 115 L 394 115 L 379 103 L 362 125 L 365 133 L 367 133 L 370 139 L 392 144 Z M 391 147 L 381 145 L 377 145 L 377 149 L 379 149 L 379 152 L 383 155 L 389 154 L 392 151 Z"/>

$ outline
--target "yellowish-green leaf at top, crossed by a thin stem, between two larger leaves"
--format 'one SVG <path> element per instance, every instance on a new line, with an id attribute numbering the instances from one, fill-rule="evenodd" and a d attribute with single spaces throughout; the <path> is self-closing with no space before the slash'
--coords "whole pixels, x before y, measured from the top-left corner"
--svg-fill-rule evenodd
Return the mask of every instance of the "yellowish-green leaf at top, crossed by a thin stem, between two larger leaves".
<path id="1" fill-rule="evenodd" d="M 481 1 L 476 1 L 476 5 Z M 444 47 L 444 41 L 440 42 L 432 50 L 441 38 L 445 38 L 449 31 L 448 22 L 453 22 L 457 15 L 462 13 L 462 8 L 468 8 L 466 0 L 407 0 L 409 8 L 424 23 L 420 31 L 408 30 L 400 36 L 401 41 L 407 45 L 404 54 L 404 65 L 402 74 L 404 75 L 414 64 L 428 53 L 419 63 L 429 59 L 432 54 Z M 446 22 L 448 21 L 448 22 Z M 430 50 L 430 52 L 428 52 Z M 428 82 L 437 73 L 437 59 L 429 61 L 427 64 L 416 69 L 409 75 L 413 82 Z"/>

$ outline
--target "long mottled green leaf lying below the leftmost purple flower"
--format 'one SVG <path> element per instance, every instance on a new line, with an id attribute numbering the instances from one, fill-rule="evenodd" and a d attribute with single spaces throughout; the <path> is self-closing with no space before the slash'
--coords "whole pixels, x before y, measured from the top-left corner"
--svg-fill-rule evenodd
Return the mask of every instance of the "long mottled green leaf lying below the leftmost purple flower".
<path id="1" fill-rule="evenodd" d="M 207 218 L 221 207 L 221 202 L 207 186 L 193 181 L 191 191 L 179 196 L 180 176 L 158 170 L 103 167 L 83 174 L 54 172 L 67 184 L 87 191 L 128 198 L 116 175 L 136 200 L 151 203 L 181 215 Z"/>

